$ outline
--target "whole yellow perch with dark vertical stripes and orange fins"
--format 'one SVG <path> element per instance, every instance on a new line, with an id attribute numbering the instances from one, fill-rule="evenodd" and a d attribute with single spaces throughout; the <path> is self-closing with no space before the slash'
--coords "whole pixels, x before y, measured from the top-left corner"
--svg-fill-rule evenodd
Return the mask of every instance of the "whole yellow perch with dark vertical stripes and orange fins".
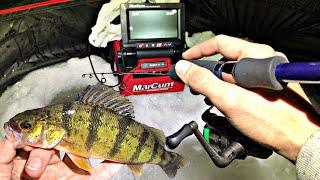
<path id="1" fill-rule="evenodd" d="M 16 148 L 61 150 L 89 172 L 89 158 L 128 164 L 134 172 L 157 164 L 169 177 L 187 164 L 165 150 L 162 131 L 135 121 L 129 100 L 105 85 L 89 86 L 78 101 L 20 113 L 4 129 Z"/>

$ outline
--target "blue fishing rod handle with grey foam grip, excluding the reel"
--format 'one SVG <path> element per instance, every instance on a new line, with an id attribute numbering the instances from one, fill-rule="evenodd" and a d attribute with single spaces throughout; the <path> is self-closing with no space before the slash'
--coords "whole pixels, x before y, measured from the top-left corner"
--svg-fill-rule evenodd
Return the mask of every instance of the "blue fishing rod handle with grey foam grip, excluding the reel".
<path id="1" fill-rule="evenodd" d="M 219 79 L 236 83 L 244 88 L 283 90 L 288 82 L 320 84 L 320 62 L 289 63 L 280 56 L 236 62 L 198 60 L 190 61 L 210 70 Z M 173 66 L 169 76 L 181 81 Z"/>

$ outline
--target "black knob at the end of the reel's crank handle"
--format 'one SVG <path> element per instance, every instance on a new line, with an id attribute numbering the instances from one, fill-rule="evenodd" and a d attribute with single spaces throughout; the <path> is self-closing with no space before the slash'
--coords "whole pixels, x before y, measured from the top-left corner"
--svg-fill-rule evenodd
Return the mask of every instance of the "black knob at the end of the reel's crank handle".
<path id="1" fill-rule="evenodd" d="M 178 132 L 166 138 L 168 148 L 175 149 L 188 136 L 193 134 L 190 124 L 185 124 Z"/>

